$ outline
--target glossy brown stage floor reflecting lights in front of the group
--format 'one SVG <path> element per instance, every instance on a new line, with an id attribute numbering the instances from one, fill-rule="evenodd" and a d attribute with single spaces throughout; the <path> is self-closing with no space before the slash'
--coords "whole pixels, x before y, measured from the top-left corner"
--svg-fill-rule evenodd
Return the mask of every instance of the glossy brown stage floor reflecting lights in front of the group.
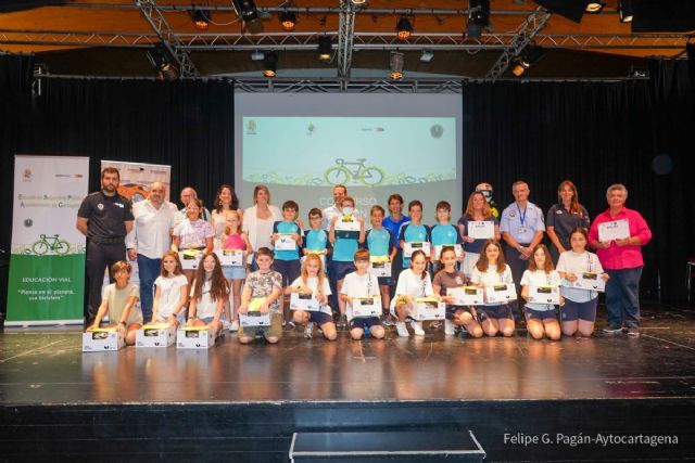
<path id="1" fill-rule="evenodd" d="M 605 309 L 599 308 L 601 313 Z M 604 321 L 597 322 L 598 326 Z M 83 353 L 77 329 L 0 334 L 0 403 L 553 400 L 695 396 L 695 312 L 650 306 L 642 336 L 313 340 L 277 346 L 227 335 L 208 351 Z"/>

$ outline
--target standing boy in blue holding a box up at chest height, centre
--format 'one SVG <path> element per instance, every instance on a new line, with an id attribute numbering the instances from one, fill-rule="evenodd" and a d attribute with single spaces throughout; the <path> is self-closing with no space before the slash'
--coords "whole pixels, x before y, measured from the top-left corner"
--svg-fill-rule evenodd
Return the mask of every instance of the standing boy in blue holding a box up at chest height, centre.
<path id="1" fill-rule="evenodd" d="M 328 240 L 333 245 L 333 254 L 331 257 L 331 278 L 336 281 L 336 287 L 338 294 L 340 294 L 343 287 L 343 280 L 348 273 L 355 271 L 355 265 L 353 262 L 355 252 L 361 243 L 365 242 L 365 220 L 362 216 L 355 213 L 355 200 L 350 196 L 344 196 L 341 202 L 342 215 L 336 216 L 330 221 L 330 228 L 328 232 Z M 359 234 L 357 237 L 341 237 L 342 234 L 336 233 L 336 223 L 338 220 L 356 220 L 359 222 Z M 338 308 L 340 310 L 340 320 L 337 325 L 338 329 L 344 329 L 348 324 L 345 319 L 345 301 L 342 298 L 338 298 Z"/>

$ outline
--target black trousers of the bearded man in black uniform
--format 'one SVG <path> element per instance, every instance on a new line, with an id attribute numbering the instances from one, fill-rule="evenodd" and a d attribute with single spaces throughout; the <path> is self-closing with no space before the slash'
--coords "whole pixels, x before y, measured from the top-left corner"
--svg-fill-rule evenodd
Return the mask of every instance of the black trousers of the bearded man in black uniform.
<path id="1" fill-rule="evenodd" d="M 85 282 L 85 323 L 87 326 L 94 322 L 97 311 L 101 305 L 101 286 L 104 281 L 104 271 L 109 269 L 109 279 L 113 283 L 111 274 L 111 266 L 118 260 L 125 260 L 126 245 L 125 243 L 106 244 L 87 243 L 87 274 Z"/>

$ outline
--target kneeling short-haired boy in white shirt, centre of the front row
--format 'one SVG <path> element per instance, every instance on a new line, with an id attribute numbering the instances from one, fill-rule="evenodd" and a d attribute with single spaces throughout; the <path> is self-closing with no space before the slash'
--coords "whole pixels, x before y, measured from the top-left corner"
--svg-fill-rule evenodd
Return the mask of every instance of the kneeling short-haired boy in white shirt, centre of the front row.
<path id="1" fill-rule="evenodd" d="M 379 321 L 379 282 L 369 273 L 369 250 L 357 249 L 354 259 L 357 270 L 345 275 L 340 291 L 340 300 L 346 305 L 350 335 L 358 340 L 369 330 L 374 337 L 381 339 L 386 332 Z"/>

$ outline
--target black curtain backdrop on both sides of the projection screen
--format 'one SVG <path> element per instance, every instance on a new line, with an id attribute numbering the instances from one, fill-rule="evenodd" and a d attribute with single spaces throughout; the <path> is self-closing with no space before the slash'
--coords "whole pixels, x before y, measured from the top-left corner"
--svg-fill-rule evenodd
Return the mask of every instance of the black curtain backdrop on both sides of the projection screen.
<path id="1" fill-rule="evenodd" d="M 31 56 L 0 54 L 0 248 L 10 243 L 15 153 L 91 157 L 90 191 L 99 160 L 172 165 L 173 200 L 191 184 L 210 204 L 233 179 L 232 86 L 214 81 L 52 79 L 30 93 Z M 605 189 L 622 182 L 628 206 L 649 221 L 643 288 L 684 300 L 683 272 L 695 254 L 695 203 L 687 195 L 693 90 L 687 61 L 654 62 L 650 80 L 627 82 L 503 82 L 464 87 L 464 196 L 479 181 L 495 187 L 502 207 L 511 182 L 531 185 L 544 210 L 558 183 L 572 179 L 592 217 L 606 207 Z M 10 102 L 10 104 L 5 104 Z M 658 154 L 673 160 L 658 176 Z M 406 198 L 407 201 L 408 198 Z"/>

